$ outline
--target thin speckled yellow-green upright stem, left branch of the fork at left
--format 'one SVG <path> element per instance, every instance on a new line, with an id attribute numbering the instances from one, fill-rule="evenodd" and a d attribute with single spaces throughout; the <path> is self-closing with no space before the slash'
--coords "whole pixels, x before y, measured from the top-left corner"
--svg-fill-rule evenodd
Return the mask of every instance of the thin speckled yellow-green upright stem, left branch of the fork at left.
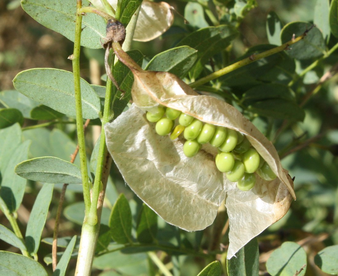
<path id="1" fill-rule="evenodd" d="M 82 101 L 80 88 L 80 47 L 81 47 L 81 30 L 82 30 L 82 15 L 78 12 L 82 7 L 82 1 L 76 1 L 76 21 L 75 21 L 75 40 L 74 53 L 72 55 L 72 65 L 74 74 L 74 91 L 75 91 L 75 108 L 76 108 L 76 130 L 77 141 L 79 145 L 80 169 L 82 176 L 83 200 L 86 211 L 86 216 L 90 210 L 90 188 L 88 183 L 87 171 L 87 156 L 86 145 L 84 141 L 83 117 L 82 117 Z"/>

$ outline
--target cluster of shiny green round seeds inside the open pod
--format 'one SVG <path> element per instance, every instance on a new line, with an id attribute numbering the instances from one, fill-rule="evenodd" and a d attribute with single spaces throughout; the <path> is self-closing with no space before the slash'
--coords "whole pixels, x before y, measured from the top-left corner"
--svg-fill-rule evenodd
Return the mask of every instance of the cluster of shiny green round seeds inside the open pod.
<path id="1" fill-rule="evenodd" d="M 231 182 L 235 182 L 242 191 L 255 186 L 257 173 L 261 178 L 271 181 L 276 178 L 269 165 L 253 148 L 244 134 L 233 129 L 203 123 L 193 116 L 179 110 L 158 106 L 146 113 L 150 122 L 156 122 L 155 131 L 170 139 L 178 138 L 182 133 L 185 138 L 183 153 L 187 157 L 195 156 L 202 144 L 209 143 L 217 147 L 219 153 L 215 164 L 219 171 L 226 174 Z M 175 125 L 178 121 L 178 125 Z"/>

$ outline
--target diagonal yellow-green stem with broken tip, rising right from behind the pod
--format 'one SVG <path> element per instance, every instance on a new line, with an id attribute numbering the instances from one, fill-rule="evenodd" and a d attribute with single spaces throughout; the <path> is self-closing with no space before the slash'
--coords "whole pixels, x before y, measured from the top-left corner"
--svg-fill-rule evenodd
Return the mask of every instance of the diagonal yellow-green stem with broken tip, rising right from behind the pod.
<path id="1" fill-rule="evenodd" d="M 240 68 L 242 66 L 250 64 L 252 62 L 255 62 L 255 61 L 259 60 L 259 59 L 271 56 L 273 54 L 279 53 L 281 51 L 287 50 L 287 49 L 289 49 L 290 45 L 292 45 L 292 44 L 298 42 L 299 40 L 303 39 L 306 36 L 307 32 L 308 31 L 306 31 L 304 34 L 302 34 L 302 35 L 300 35 L 300 36 L 298 36 L 298 37 L 296 37 L 294 39 L 291 39 L 290 41 L 288 41 L 287 43 L 284 43 L 283 45 L 281 45 L 279 47 L 275 47 L 273 49 L 270 49 L 268 51 L 265 51 L 265 52 L 257 54 L 257 55 L 255 55 L 255 54 L 251 55 L 251 56 L 249 56 L 249 57 L 247 57 L 245 59 L 242 59 L 242 60 L 240 60 L 238 62 L 235 62 L 235 63 L 233 63 L 233 64 L 231 64 L 229 66 L 226 66 L 226 67 L 222 68 L 221 70 L 218 70 L 218 71 L 216 71 L 216 72 L 214 72 L 214 73 L 212 73 L 212 74 L 210 74 L 210 75 L 208 75 L 208 76 L 206 76 L 204 78 L 201 78 L 198 81 L 190 83 L 189 85 L 192 88 L 198 87 L 198 86 L 200 86 L 200 85 L 202 85 L 204 83 L 207 83 L 207 82 L 209 82 L 211 80 L 214 80 L 214 79 L 217 79 L 217 78 L 219 78 L 219 77 L 221 77 L 221 76 L 223 76 L 223 75 L 225 75 L 227 73 L 230 73 L 231 71 L 234 71 L 234 70 L 236 70 L 236 69 L 238 69 L 238 68 Z"/>

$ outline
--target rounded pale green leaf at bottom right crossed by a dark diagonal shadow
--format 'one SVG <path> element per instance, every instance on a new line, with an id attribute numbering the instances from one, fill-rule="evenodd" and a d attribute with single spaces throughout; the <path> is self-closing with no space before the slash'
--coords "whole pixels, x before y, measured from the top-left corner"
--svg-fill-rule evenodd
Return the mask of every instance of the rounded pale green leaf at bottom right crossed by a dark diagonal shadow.
<path id="1" fill-rule="evenodd" d="M 285 242 L 272 252 L 266 262 L 266 269 L 272 275 L 294 275 L 307 264 L 305 250 L 294 242 Z M 305 275 L 306 269 L 299 276 Z"/>

